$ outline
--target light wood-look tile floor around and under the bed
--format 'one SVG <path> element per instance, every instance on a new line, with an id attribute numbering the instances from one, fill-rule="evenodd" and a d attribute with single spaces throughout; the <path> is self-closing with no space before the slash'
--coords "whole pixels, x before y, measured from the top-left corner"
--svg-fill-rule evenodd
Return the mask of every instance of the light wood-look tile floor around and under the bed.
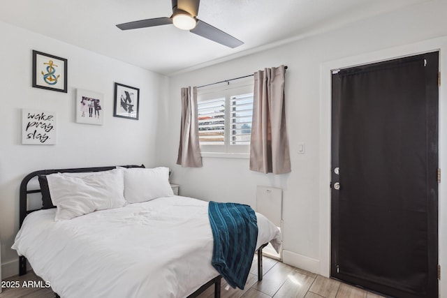
<path id="1" fill-rule="evenodd" d="M 256 255 L 251 266 L 249 277 L 244 290 L 227 288 L 227 283 L 222 279 L 222 298 L 279 298 L 279 297 L 304 297 L 304 298 L 378 298 L 381 297 L 372 292 L 353 287 L 325 278 L 309 271 L 285 265 L 284 263 L 263 258 L 263 281 L 258 282 Z M 29 271 L 24 276 L 13 276 L 6 281 L 38 281 L 34 272 Z M 52 298 L 50 288 L 3 288 L 0 298 Z M 200 298 L 214 297 L 214 285 L 205 290 Z M 123 297 L 124 298 L 124 297 Z M 148 296 L 148 298 L 150 298 Z"/>

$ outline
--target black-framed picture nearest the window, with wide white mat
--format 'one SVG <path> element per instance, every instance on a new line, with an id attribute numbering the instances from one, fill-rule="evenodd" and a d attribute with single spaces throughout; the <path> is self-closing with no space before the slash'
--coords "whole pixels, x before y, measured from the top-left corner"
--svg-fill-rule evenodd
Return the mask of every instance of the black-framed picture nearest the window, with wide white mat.
<path id="1" fill-rule="evenodd" d="M 138 120 L 140 89 L 115 83 L 113 116 Z"/>

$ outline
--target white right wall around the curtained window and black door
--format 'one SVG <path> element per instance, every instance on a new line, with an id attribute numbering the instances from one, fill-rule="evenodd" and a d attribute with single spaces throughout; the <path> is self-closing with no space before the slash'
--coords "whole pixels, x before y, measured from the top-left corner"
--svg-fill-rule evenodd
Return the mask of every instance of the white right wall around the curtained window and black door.
<path id="1" fill-rule="evenodd" d="M 168 115 L 180 114 L 181 87 L 200 86 L 232 77 L 254 73 L 265 67 L 288 66 L 286 71 L 286 108 L 288 135 L 291 146 L 292 172 L 290 174 L 259 174 L 249 171 L 247 159 L 203 158 L 202 168 L 182 168 L 175 165 L 179 140 L 179 119 L 164 122 L 159 138 L 159 156 L 173 168 L 172 180 L 180 184 L 182 195 L 204 200 L 244 202 L 256 206 L 256 185 L 284 189 L 284 262 L 316 273 L 328 275 L 329 175 L 327 158 L 330 142 L 330 98 L 322 93 L 323 85 L 330 82 L 327 70 L 330 61 L 344 66 L 366 64 L 377 59 L 391 59 L 402 54 L 416 54 L 420 49 L 441 48 L 441 70 L 446 70 L 447 1 L 429 1 L 387 15 L 362 20 L 349 27 L 335 29 L 296 40 L 246 57 L 209 66 L 170 78 L 170 98 L 161 107 L 161 123 Z M 411 46 L 423 40 L 425 47 Z M 392 48 L 400 50 L 386 50 Z M 434 47 L 434 48 L 432 48 Z M 377 54 L 382 51 L 381 54 Z M 359 59 L 348 59 L 357 57 Z M 331 64 L 332 65 L 332 64 Z M 338 67 L 343 65 L 337 64 Z M 446 75 L 444 75 L 445 77 Z M 444 80 L 443 84 L 447 84 Z M 440 165 L 447 169 L 445 119 L 447 107 L 443 100 L 446 91 L 440 89 Z M 305 154 L 298 154 L 298 143 L 305 142 Z M 162 145 L 163 144 L 163 145 Z M 439 248 L 441 266 L 447 268 L 446 182 L 439 188 Z M 323 247 L 322 247 L 323 246 Z M 324 264 L 321 264 L 323 262 Z M 447 297 L 447 283 L 441 284 L 441 297 Z"/>

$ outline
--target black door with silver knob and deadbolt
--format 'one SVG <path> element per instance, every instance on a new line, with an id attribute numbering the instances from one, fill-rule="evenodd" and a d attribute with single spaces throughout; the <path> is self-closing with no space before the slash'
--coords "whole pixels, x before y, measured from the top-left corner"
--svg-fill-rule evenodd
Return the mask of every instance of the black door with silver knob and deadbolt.
<path id="1" fill-rule="evenodd" d="M 331 276 L 438 297 L 438 52 L 332 75 Z"/>

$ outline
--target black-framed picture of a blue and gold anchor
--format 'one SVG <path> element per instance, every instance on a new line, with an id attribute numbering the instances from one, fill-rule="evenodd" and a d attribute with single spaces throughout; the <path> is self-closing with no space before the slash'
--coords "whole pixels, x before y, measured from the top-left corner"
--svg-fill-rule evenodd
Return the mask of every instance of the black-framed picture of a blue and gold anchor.
<path id="1" fill-rule="evenodd" d="M 33 87 L 67 93 L 67 59 L 33 50 Z"/>

